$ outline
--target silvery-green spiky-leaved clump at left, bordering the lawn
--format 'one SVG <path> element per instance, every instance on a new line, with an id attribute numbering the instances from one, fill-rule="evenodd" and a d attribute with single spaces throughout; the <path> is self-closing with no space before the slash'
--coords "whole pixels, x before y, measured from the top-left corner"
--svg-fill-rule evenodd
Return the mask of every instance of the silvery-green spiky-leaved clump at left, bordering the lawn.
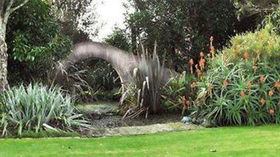
<path id="1" fill-rule="evenodd" d="M 56 87 L 29 84 L 28 87 L 12 87 L 3 95 L 3 116 L 0 128 L 3 134 L 13 132 L 18 135 L 24 130 L 71 130 L 88 127 L 81 114 L 76 114 L 73 100 L 64 96 Z"/>

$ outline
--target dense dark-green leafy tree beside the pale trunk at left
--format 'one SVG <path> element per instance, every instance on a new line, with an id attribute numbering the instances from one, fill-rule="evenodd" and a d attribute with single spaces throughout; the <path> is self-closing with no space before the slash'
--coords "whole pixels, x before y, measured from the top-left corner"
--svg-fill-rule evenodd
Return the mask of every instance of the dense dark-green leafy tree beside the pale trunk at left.
<path id="1" fill-rule="evenodd" d="M 11 84 L 46 78 L 52 63 L 71 52 L 71 40 L 62 35 L 50 5 L 32 0 L 8 22 L 8 80 Z"/>

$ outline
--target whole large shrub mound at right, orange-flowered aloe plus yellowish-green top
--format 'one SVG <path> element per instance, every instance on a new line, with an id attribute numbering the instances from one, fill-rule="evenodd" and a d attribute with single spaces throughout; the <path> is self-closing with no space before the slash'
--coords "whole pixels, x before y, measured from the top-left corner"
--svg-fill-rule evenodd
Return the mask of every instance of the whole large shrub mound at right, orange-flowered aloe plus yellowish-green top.
<path id="1" fill-rule="evenodd" d="M 197 82 L 193 121 L 256 125 L 280 121 L 280 37 L 262 29 L 232 38 L 232 46 L 208 58 Z"/>

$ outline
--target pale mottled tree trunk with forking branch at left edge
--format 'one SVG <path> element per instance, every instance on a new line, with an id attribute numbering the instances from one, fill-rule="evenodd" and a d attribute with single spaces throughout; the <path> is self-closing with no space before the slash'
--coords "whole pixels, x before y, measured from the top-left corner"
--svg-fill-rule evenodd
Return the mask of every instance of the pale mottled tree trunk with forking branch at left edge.
<path id="1" fill-rule="evenodd" d="M 22 7 L 29 0 L 14 1 L 1 0 L 0 1 L 0 91 L 4 91 L 8 85 L 7 80 L 7 64 L 8 64 L 8 47 L 6 44 L 6 26 L 10 15 Z"/>

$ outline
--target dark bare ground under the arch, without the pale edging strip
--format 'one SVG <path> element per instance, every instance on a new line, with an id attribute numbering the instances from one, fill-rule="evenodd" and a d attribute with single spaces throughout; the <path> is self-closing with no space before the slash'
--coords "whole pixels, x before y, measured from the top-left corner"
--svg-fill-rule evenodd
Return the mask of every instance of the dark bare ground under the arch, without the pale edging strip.
<path id="1" fill-rule="evenodd" d="M 166 124 L 181 121 L 181 114 L 159 114 L 149 115 L 148 119 L 139 117 L 137 119 L 123 119 L 118 115 L 118 103 L 98 102 L 90 105 L 78 105 L 78 110 L 88 119 L 92 128 L 116 128 L 124 126 L 146 126 L 150 124 Z"/>

